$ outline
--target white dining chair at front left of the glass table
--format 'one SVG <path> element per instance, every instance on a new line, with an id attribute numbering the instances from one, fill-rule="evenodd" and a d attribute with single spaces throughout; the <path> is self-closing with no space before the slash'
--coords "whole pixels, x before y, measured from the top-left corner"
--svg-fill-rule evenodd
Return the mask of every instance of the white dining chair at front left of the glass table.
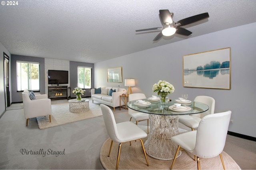
<path id="1" fill-rule="evenodd" d="M 144 149 L 144 144 L 142 141 L 142 138 L 147 137 L 148 134 L 144 130 L 140 129 L 140 127 L 132 123 L 131 121 L 116 123 L 114 114 L 108 106 L 104 104 L 100 104 L 100 108 L 102 110 L 102 115 L 103 115 L 104 123 L 106 126 L 106 130 L 108 132 L 110 139 L 112 140 L 108 156 L 110 156 L 110 151 L 112 148 L 113 141 L 116 143 L 119 143 L 116 169 L 118 169 L 118 163 L 119 163 L 122 144 L 126 142 L 130 142 L 130 145 L 131 145 L 131 141 L 136 141 L 136 140 L 140 140 L 140 143 L 142 145 L 142 149 L 146 158 L 147 166 L 149 166 L 148 158 L 147 158 L 146 151 Z"/>

